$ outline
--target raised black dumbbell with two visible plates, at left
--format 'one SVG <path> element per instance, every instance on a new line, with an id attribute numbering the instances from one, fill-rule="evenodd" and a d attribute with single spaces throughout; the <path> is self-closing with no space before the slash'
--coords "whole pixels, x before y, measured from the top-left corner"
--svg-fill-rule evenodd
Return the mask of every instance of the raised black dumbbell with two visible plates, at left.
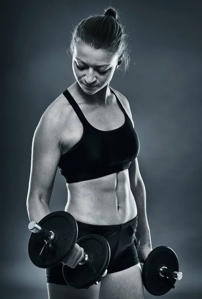
<path id="1" fill-rule="evenodd" d="M 75 243 L 84 249 L 84 259 L 77 267 L 63 265 L 63 276 L 67 285 L 76 289 L 87 289 L 98 284 L 107 274 L 110 261 L 109 243 L 96 234 L 77 240 L 77 223 L 68 212 L 50 213 L 39 223 L 30 222 L 28 228 L 32 232 L 28 243 L 29 258 L 39 268 L 51 268 L 65 261 Z"/>

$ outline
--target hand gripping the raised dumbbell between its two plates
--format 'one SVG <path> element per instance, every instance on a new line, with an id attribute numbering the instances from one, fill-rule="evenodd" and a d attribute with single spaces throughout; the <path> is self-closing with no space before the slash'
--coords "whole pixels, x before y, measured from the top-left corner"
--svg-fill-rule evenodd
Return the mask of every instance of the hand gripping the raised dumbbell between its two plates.
<path id="1" fill-rule="evenodd" d="M 81 263 L 83 259 L 84 249 L 76 243 L 70 254 L 62 263 L 68 267 L 76 268 L 76 266 Z"/>

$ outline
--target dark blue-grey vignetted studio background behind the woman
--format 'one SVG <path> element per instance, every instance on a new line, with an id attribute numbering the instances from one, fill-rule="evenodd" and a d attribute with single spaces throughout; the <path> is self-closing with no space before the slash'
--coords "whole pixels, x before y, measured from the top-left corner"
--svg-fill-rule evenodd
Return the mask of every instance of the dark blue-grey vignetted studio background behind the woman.
<path id="1" fill-rule="evenodd" d="M 202 298 L 202 1 L 1 1 L 1 294 L 47 299 L 45 271 L 28 258 L 26 195 L 34 130 L 74 82 L 70 31 L 112 5 L 129 34 L 131 66 L 111 86 L 129 100 L 140 140 L 153 247 L 177 253 L 184 273 L 164 297 Z M 67 191 L 57 173 L 51 211 Z M 152 298 L 145 292 L 145 298 Z"/>

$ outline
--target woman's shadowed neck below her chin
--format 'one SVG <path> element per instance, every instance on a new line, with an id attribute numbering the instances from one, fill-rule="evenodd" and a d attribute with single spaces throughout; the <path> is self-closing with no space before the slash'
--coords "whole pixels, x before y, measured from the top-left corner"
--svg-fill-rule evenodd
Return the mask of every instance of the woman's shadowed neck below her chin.
<path id="1" fill-rule="evenodd" d="M 96 92 L 95 94 L 88 95 L 86 94 L 82 88 L 79 86 L 77 81 L 74 83 L 77 92 L 82 96 L 82 98 L 89 104 L 94 104 L 95 106 L 107 106 L 109 102 L 109 97 L 111 95 L 111 91 L 109 88 L 109 84 L 104 86 L 101 90 Z"/>

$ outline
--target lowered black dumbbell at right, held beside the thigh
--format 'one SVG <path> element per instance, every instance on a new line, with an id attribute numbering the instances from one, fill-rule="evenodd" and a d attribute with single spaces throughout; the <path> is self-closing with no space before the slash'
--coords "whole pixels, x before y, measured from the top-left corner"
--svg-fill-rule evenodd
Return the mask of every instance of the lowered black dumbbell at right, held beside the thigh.
<path id="1" fill-rule="evenodd" d="M 153 296 L 162 296 L 175 288 L 176 281 L 183 278 L 179 272 L 179 262 L 176 253 L 167 246 L 154 248 L 147 256 L 142 266 L 142 282 Z"/>

